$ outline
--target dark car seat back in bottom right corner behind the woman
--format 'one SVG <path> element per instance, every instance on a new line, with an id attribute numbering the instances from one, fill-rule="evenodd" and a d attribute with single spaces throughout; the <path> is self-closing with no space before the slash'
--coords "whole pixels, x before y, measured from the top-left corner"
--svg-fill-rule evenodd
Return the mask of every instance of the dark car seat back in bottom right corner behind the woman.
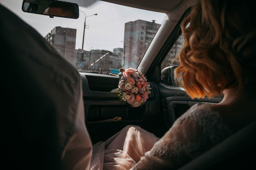
<path id="1" fill-rule="evenodd" d="M 256 122 L 241 129 L 179 170 L 246 168 L 254 163 Z"/>

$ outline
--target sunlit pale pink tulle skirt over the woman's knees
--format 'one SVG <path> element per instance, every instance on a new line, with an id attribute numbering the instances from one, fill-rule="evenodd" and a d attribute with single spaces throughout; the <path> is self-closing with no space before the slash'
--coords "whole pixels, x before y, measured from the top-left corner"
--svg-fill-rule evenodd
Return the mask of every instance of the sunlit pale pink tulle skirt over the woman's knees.
<path id="1" fill-rule="evenodd" d="M 139 126 L 126 126 L 106 142 L 93 145 L 90 170 L 127 170 L 159 140 Z"/>

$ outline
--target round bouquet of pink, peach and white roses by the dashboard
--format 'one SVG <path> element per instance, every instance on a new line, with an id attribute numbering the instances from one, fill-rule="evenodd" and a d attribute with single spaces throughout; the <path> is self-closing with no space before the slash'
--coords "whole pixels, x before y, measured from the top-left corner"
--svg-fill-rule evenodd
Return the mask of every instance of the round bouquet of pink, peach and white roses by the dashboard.
<path id="1" fill-rule="evenodd" d="M 148 99 L 151 92 L 149 83 L 141 71 L 129 68 L 120 69 L 119 89 L 117 90 L 120 100 L 129 103 L 132 107 L 139 107 Z"/>

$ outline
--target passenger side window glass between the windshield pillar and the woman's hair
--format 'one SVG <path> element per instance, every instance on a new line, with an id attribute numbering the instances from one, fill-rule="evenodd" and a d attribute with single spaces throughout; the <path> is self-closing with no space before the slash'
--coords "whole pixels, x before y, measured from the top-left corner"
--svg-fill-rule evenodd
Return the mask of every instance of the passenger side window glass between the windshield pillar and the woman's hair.
<path id="1" fill-rule="evenodd" d="M 179 54 L 182 46 L 183 46 L 184 40 L 183 40 L 183 35 L 181 34 L 177 41 L 174 43 L 172 46 L 170 52 L 167 54 L 166 58 L 161 64 L 161 71 L 169 66 L 173 65 L 180 65 L 179 59 L 177 58 L 177 55 Z"/>

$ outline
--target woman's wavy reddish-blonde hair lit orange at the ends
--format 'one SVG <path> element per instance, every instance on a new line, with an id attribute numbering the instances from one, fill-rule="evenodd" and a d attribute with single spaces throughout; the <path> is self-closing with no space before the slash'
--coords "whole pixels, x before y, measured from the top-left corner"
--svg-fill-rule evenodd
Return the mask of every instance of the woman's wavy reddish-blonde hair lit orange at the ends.
<path id="1" fill-rule="evenodd" d="M 184 46 L 175 75 L 191 98 L 255 83 L 253 1 L 201 0 L 181 23 Z"/>

